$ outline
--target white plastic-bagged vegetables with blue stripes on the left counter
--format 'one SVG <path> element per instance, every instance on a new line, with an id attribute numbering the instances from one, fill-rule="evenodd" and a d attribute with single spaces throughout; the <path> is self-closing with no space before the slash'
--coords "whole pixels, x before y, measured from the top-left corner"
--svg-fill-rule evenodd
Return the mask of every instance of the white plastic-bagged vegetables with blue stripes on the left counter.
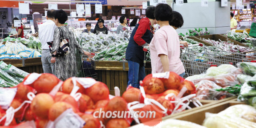
<path id="1" fill-rule="evenodd" d="M 0 55 L 0 59 L 41 57 L 37 50 L 28 48 L 20 42 L 6 42 L 5 45 L 0 45 Z"/>

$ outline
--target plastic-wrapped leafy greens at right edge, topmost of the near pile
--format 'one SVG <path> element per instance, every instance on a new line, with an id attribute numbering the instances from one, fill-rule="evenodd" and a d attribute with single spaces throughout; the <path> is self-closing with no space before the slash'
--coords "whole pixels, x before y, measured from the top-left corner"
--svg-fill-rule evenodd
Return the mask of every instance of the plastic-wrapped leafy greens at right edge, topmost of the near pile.
<path id="1" fill-rule="evenodd" d="M 237 64 L 239 68 L 246 74 L 250 76 L 254 76 L 256 74 L 256 63 L 251 62 L 241 62 Z"/>

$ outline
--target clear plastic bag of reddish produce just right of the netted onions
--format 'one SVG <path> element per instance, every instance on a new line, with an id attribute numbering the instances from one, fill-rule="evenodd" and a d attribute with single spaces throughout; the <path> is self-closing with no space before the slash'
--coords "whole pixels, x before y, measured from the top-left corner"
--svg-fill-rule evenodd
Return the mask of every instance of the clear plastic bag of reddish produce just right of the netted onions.
<path id="1" fill-rule="evenodd" d="M 198 100 L 221 100 L 226 97 L 235 96 L 227 92 L 218 92 L 215 89 L 221 89 L 212 81 L 202 80 L 197 84 L 196 98 Z"/>

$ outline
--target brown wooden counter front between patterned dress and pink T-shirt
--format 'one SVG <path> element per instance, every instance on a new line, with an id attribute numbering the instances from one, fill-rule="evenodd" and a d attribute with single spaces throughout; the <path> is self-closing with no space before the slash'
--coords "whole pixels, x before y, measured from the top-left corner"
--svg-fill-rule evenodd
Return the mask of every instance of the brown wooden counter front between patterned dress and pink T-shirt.
<path id="1" fill-rule="evenodd" d="M 125 92 L 128 83 L 128 62 L 127 61 L 95 61 L 91 60 L 92 67 L 97 70 L 98 81 L 105 83 L 114 95 L 114 87 L 120 89 L 121 95 Z M 151 62 L 145 66 L 146 75 L 151 74 Z"/>

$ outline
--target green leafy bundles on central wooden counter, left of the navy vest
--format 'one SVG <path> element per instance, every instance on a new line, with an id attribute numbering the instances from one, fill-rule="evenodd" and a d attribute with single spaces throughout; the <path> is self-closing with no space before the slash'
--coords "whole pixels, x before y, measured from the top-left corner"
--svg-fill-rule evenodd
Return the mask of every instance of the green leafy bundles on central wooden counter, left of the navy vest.
<path id="1" fill-rule="evenodd" d="M 121 61 L 125 60 L 125 52 L 128 43 L 120 43 L 119 45 L 111 44 L 108 48 L 101 50 L 94 56 L 99 61 Z"/>

